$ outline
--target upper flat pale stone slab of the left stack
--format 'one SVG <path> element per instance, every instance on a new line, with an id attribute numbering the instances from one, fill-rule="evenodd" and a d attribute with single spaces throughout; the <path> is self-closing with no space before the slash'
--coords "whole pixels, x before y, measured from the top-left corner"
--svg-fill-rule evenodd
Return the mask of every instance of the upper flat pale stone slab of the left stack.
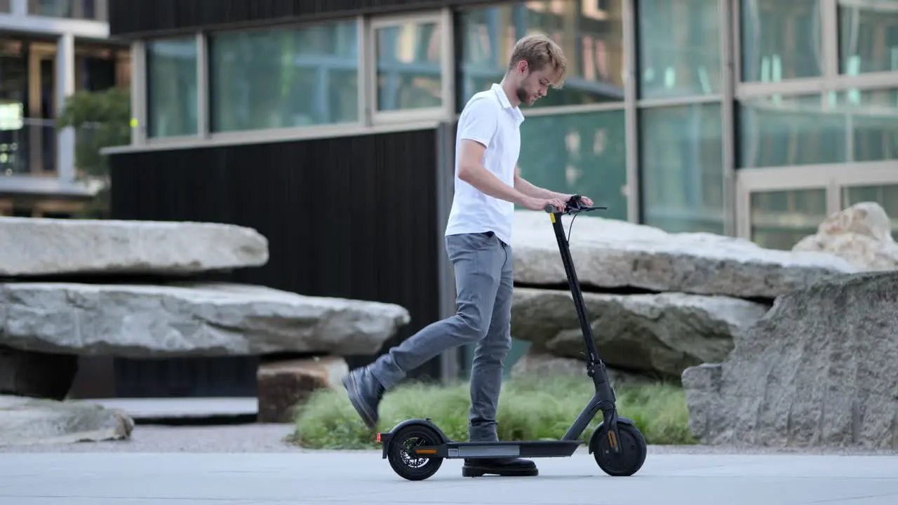
<path id="1" fill-rule="evenodd" d="M 257 267 L 269 243 L 217 223 L 0 217 L 0 277 L 165 274 Z"/>

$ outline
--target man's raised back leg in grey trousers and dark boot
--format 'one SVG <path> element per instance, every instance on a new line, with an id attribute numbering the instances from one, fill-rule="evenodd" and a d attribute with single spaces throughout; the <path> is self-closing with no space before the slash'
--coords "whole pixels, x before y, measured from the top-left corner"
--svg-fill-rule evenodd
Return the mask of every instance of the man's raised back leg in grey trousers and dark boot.
<path id="1" fill-rule="evenodd" d="M 455 315 L 428 324 L 371 365 L 343 379 L 350 402 L 369 428 L 377 424 L 377 409 L 385 390 L 445 350 L 480 341 L 487 334 L 506 261 L 501 242 L 492 233 L 450 235 L 446 237 L 446 253 L 455 270 Z"/>

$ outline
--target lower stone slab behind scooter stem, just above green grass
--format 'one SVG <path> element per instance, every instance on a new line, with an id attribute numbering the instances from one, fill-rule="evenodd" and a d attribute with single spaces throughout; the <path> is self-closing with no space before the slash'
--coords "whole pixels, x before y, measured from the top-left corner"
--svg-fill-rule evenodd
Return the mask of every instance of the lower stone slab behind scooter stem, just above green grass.
<path id="1" fill-rule="evenodd" d="M 730 297 L 682 293 L 584 293 L 596 346 L 610 367 L 680 378 L 682 371 L 726 358 L 733 335 L 767 306 Z M 515 288 L 512 335 L 560 358 L 579 359 L 585 343 L 569 291 Z"/>

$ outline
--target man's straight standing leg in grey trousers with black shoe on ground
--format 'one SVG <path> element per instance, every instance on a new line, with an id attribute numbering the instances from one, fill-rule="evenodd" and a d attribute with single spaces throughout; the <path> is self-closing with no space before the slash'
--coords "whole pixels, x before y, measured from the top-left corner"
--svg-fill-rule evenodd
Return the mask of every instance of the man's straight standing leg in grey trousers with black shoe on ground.
<path id="1" fill-rule="evenodd" d="M 478 342 L 471 366 L 471 413 L 468 438 L 471 441 L 498 441 L 496 412 L 502 389 L 503 362 L 511 349 L 511 305 L 514 294 L 513 258 L 510 245 L 503 245 L 505 261 L 502 279 L 493 304 L 487 336 Z M 462 475 L 484 474 L 533 476 L 538 474 L 533 461 L 526 459 L 465 460 Z"/>

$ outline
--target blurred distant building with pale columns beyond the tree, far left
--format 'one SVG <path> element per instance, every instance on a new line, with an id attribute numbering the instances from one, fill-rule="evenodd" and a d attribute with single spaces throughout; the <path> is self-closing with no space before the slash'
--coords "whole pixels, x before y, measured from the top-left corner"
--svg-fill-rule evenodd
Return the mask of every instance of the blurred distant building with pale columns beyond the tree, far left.
<path id="1" fill-rule="evenodd" d="M 0 216 L 70 217 L 92 190 L 58 130 L 66 96 L 128 87 L 127 42 L 109 40 L 108 0 L 0 0 Z"/>

